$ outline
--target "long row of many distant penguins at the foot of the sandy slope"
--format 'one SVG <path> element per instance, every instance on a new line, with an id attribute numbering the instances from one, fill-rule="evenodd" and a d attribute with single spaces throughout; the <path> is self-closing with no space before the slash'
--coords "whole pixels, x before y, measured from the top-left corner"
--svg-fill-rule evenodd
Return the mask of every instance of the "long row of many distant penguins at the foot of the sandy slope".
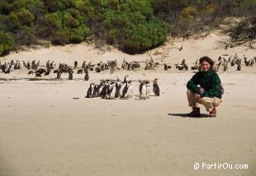
<path id="1" fill-rule="evenodd" d="M 130 61 L 127 62 L 124 58 L 121 67 L 118 67 L 116 60 L 109 60 L 106 63 L 99 62 L 99 63 L 87 63 L 83 61 L 82 65 L 78 64 L 78 61 L 74 61 L 73 66 L 69 66 L 67 63 L 59 63 L 59 66 L 56 67 L 54 61 L 48 60 L 45 64 L 41 64 L 40 61 L 32 60 L 24 62 L 22 64 L 20 61 L 11 61 L 7 63 L 0 62 L 0 72 L 2 71 L 5 74 L 12 73 L 15 70 L 26 69 L 29 75 L 35 75 L 36 77 L 41 76 L 48 76 L 51 72 L 56 74 L 56 79 L 60 79 L 63 73 L 69 74 L 68 79 L 73 80 L 73 73 L 76 72 L 77 74 L 84 74 L 83 79 L 85 81 L 89 80 L 89 72 L 106 72 L 109 71 L 110 73 L 126 70 L 126 71 L 135 71 L 141 69 L 141 63 L 145 63 L 144 70 L 155 70 L 158 69 L 161 65 L 164 65 L 164 71 L 168 71 L 172 69 L 172 66 L 168 63 L 164 63 L 164 56 L 161 58 L 162 63 L 155 63 L 153 58 L 149 60 L 146 59 L 145 62 L 137 62 L 137 61 Z M 228 71 L 229 67 L 236 67 L 237 71 L 241 71 L 242 67 L 251 67 L 256 63 L 256 57 L 254 58 L 247 58 L 243 56 L 243 58 L 239 58 L 238 54 L 235 53 L 235 56 L 226 59 L 225 57 L 219 57 L 215 64 L 214 69 L 216 72 L 222 70 L 223 72 Z M 181 63 L 174 64 L 174 68 L 178 69 L 178 71 L 188 71 L 189 67 L 187 66 L 186 60 L 183 59 Z M 196 63 L 192 64 L 191 70 L 199 70 L 200 71 L 200 63 L 198 59 Z M 145 84 L 145 83 L 143 83 Z"/>

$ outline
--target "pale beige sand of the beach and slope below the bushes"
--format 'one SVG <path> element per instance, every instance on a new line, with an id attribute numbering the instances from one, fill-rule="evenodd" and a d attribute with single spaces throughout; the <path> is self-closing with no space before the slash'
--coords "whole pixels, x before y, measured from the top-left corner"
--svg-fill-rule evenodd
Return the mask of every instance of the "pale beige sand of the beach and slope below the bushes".
<path id="1" fill-rule="evenodd" d="M 201 55 L 239 53 L 254 57 L 244 47 L 223 49 L 225 36 L 176 41 L 158 49 L 166 63 L 193 63 Z M 173 47 L 184 46 L 183 52 Z M 154 59 L 160 55 L 150 53 Z M 97 54 L 84 44 L 12 53 L 2 60 L 48 59 L 56 63 L 111 59 L 145 61 L 147 54 L 129 56 L 113 49 Z M 32 77 L 26 70 L 0 77 Z M 133 83 L 130 100 L 84 99 L 88 84 L 102 78 L 132 80 L 159 78 L 161 96 L 138 100 Z M 90 81 L 0 81 L 0 175 L 255 175 L 256 76 L 255 67 L 244 72 L 221 73 L 225 86 L 217 118 L 184 118 L 190 111 L 186 82 L 192 72 L 157 71 L 91 73 Z M 49 77 L 55 77 L 50 75 Z M 79 98 L 74 100 L 73 98 Z M 201 109 L 206 113 L 205 109 Z M 249 164 L 249 169 L 199 169 L 194 163 Z"/>

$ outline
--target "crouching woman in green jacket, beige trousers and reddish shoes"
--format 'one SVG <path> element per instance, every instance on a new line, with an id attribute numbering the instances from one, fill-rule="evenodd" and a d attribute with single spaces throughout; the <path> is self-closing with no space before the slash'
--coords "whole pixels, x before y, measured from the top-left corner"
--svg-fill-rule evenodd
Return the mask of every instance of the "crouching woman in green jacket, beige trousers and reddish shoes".
<path id="1" fill-rule="evenodd" d="M 192 107 L 189 116 L 200 116 L 199 104 L 202 104 L 210 112 L 210 117 L 216 117 L 216 107 L 222 102 L 222 88 L 220 77 L 213 71 L 213 64 L 209 57 L 200 58 L 201 72 L 187 82 L 187 100 Z"/>

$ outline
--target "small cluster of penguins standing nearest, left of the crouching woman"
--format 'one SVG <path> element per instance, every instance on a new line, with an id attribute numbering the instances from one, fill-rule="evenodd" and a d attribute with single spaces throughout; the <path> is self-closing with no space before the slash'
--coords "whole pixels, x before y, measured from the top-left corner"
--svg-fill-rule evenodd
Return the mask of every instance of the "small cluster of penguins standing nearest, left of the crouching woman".
<path id="1" fill-rule="evenodd" d="M 130 99 L 133 95 L 133 86 L 132 81 L 130 81 L 129 76 L 126 75 L 124 81 L 121 81 L 119 78 L 115 80 L 101 80 L 99 84 L 91 83 L 87 95 L 85 98 L 95 98 L 100 97 L 102 99 L 114 100 L 117 98 L 120 99 Z M 140 100 L 149 99 L 150 93 L 150 81 L 139 81 L 139 91 L 140 91 Z M 159 96 L 160 90 L 157 83 L 157 79 L 153 81 L 153 92 L 154 95 Z"/>

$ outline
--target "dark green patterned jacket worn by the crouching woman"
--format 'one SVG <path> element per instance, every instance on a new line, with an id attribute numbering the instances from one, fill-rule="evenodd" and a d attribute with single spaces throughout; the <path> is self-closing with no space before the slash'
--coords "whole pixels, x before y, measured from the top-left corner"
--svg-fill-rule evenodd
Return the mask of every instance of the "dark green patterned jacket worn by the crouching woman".
<path id="1" fill-rule="evenodd" d="M 198 85 L 200 87 L 198 87 Z M 200 88 L 204 88 L 203 94 Z M 207 72 L 197 72 L 192 79 L 187 82 L 187 89 L 201 97 L 217 97 L 221 99 L 222 92 L 220 90 L 220 77 L 216 72 L 208 70 Z"/>

